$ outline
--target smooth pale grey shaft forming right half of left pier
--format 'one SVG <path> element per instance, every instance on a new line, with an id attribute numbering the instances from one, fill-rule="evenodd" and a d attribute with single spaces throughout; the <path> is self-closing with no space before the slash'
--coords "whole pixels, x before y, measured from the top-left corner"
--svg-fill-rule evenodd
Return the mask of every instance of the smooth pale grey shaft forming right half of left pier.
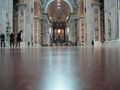
<path id="1" fill-rule="evenodd" d="M 26 3 L 25 9 L 25 42 L 31 42 L 32 30 L 34 29 L 34 0 L 24 0 Z"/>

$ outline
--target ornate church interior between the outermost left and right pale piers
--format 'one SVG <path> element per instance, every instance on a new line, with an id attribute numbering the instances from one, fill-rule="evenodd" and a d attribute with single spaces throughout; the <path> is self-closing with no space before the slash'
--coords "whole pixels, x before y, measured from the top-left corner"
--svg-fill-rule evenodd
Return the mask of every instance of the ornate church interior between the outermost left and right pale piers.
<path id="1" fill-rule="evenodd" d="M 24 44 L 90 46 L 107 41 L 104 0 L 14 0 L 13 7 L 13 31 L 23 31 Z"/>

